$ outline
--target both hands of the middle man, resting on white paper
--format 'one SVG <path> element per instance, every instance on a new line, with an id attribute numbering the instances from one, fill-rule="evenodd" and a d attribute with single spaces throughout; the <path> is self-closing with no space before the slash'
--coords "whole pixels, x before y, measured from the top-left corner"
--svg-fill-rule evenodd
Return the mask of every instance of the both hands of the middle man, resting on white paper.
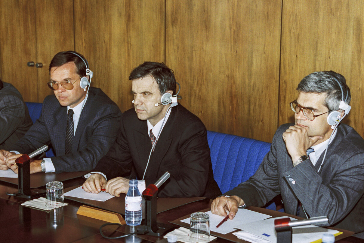
<path id="1" fill-rule="evenodd" d="M 109 181 L 101 174 L 95 173 L 90 175 L 83 183 L 83 190 L 88 193 L 99 193 L 101 189 L 105 189 L 106 193 L 110 193 L 115 197 L 120 197 L 120 194 L 126 194 L 129 190 L 129 179 L 124 177 L 116 177 Z"/>

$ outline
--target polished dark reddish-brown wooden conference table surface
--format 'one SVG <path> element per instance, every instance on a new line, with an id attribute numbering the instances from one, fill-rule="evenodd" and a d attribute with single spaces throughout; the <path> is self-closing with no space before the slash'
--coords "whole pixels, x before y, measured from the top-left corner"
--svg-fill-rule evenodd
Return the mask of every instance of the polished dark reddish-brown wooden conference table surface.
<path id="1" fill-rule="evenodd" d="M 33 177 L 31 177 L 32 180 Z M 166 239 L 157 238 L 148 235 L 128 236 L 126 238 L 110 240 L 100 235 L 99 228 L 104 221 L 77 215 L 78 208 L 83 203 L 70 199 L 64 201 L 67 206 L 51 211 L 36 210 L 33 208 L 21 206 L 20 204 L 27 199 L 17 198 L 6 195 L 7 192 L 17 191 L 17 185 L 3 181 L 0 178 L 0 239 L 1 242 L 167 242 Z M 64 190 L 69 187 L 82 185 L 83 178 L 73 178 L 64 181 Z M 40 187 L 45 189 L 45 187 Z M 211 201 L 203 199 L 192 202 L 183 206 L 172 208 L 170 210 L 157 214 L 157 221 L 166 224 L 192 212 L 202 211 L 210 207 Z M 262 212 L 272 216 L 292 216 L 278 211 L 272 211 L 264 208 L 248 207 L 250 210 Z M 174 225 L 176 228 L 179 226 Z M 132 232 L 136 227 L 123 226 L 106 226 L 103 233 L 106 236 L 120 236 L 127 232 Z M 353 236 L 340 239 L 351 235 L 352 232 L 345 231 L 340 235 L 337 242 L 364 242 Z M 337 237 L 337 239 L 338 239 Z M 245 242 L 237 238 L 234 242 Z M 229 240 L 218 238 L 214 242 L 230 242 Z"/>

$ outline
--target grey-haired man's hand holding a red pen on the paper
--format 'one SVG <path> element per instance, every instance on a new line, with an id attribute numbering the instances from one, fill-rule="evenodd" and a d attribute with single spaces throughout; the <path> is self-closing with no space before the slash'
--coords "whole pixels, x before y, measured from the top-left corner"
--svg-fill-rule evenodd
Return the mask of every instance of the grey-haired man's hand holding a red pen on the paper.
<path id="1" fill-rule="evenodd" d="M 239 206 L 243 205 L 244 201 L 238 196 L 218 197 L 215 198 L 211 204 L 211 212 L 213 214 L 226 217 L 226 211 L 228 211 L 229 219 L 233 219 L 238 211 Z"/>

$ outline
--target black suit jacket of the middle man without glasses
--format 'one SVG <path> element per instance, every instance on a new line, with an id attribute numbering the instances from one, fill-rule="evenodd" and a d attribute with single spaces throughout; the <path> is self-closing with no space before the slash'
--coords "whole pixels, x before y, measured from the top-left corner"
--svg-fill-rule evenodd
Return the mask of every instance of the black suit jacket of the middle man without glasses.
<path id="1" fill-rule="evenodd" d="M 220 195 L 213 178 L 206 127 L 182 105 L 171 109 L 150 158 L 146 185 L 155 183 L 169 171 L 171 176 L 159 188 L 158 197 L 214 198 Z M 151 147 L 147 121 L 139 120 L 134 108 L 127 110 L 122 114 L 115 144 L 94 171 L 112 179 L 125 177 L 133 170 L 137 178 L 142 179 Z M 135 178 L 134 173 L 131 178 Z"/>

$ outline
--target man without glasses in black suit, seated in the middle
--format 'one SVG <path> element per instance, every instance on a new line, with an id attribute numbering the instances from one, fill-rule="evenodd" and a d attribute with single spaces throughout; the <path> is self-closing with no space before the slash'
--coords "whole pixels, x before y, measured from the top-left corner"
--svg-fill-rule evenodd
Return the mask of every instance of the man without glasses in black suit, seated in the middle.
<path id="1" fill-rule="evenodd" d="M 97 173 L 86 175 L 84 190 L 98 193 L 104 188 L 119 196 L 129 188 L 126 176 L 136 175 L 149 185 L 169 171 L 158 197 L 221 194 L 213 178 L 206 127 L 177 105 L 173 71 L 163 63 L 144 62 L 132 70 L 129 80 L 134 109 L 123 113 L 115 144 L 95 167 Z"/>

